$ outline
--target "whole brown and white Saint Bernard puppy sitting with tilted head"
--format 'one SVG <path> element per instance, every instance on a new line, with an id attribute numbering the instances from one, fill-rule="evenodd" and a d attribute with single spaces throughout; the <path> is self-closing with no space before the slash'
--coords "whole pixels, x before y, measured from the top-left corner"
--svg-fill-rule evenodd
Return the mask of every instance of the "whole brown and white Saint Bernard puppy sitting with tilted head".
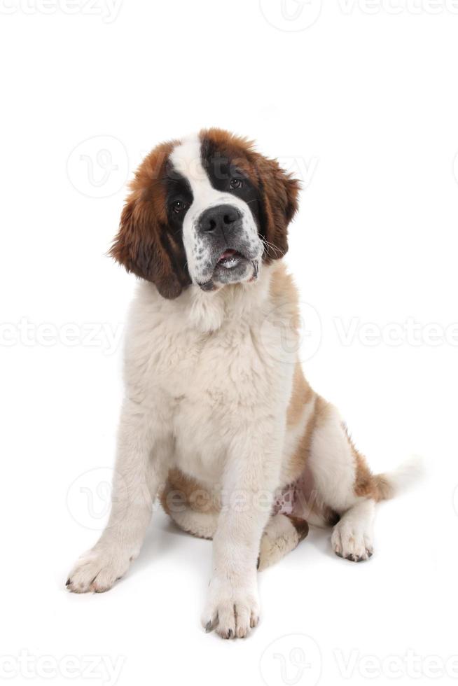
<path id="1" fill-rule="evenodd" d="M 162 144 L 132 181 L 111 255 L 140 277 L 109 524 L 67 587 L 107 591 L 139 554 L 153 501 L 213 539 L 202 624 L 244 637 L 257 569 L 308 524 L 373 554 L 375 503 L 412 471 L 373 475 L 298 361 L 298 294 L 282 260 L 299 183 L 245 139 L 210 129 Z"/>

